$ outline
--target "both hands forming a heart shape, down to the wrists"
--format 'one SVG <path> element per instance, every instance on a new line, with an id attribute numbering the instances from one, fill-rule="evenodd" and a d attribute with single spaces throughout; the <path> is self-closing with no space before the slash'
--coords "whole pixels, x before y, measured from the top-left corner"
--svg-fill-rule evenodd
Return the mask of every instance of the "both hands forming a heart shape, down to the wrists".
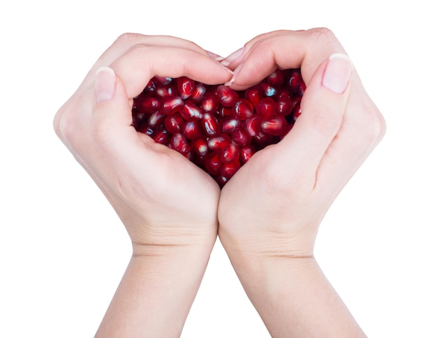
<path id="1" fill-rule="evenodd" d="M 223 190 L 131 126 L 132 98 L 154 75 L 240 90 L 278 67 L 301 68 L 302 115 Z M 311 259 L 318 225 L 383 137 L 385 122 L 334 34 L 312 29 L 262 34 L 221 62 L 186 40 L 125 34 L 59 109 L 54 129 L 117 211 L 133 256 L 173 259 L 193 249 L 208 257 L 218 233 L 245 284 L 248 260 Z"/>

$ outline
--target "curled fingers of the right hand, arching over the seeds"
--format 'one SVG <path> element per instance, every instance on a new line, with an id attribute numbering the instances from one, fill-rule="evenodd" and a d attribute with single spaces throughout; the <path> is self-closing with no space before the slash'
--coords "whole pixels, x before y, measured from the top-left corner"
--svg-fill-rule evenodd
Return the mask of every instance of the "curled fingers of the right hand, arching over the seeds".
<path id="1" fill-rule="evenodd" d="M 258 84 L 276 68 L 301 68 L 302 77 L 308 82 L 329 55 L 345 53 L 328 29 L 279 31 L 254 40 L 247 48 L 231 80 L 232 89 Z"/>

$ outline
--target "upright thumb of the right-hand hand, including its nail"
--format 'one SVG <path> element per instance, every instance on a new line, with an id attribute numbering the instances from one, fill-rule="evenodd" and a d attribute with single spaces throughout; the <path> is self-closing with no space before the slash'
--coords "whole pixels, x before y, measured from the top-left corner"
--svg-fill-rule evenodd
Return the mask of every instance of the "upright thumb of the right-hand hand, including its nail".
<path id="1" fill-rule="evenodd" d="M 332 54 L 316 70 L 302 98 L 302 114 L 276 148 L 284 171 L 316 174 L 343 123 L 352 70 L 346 54 Z"/>

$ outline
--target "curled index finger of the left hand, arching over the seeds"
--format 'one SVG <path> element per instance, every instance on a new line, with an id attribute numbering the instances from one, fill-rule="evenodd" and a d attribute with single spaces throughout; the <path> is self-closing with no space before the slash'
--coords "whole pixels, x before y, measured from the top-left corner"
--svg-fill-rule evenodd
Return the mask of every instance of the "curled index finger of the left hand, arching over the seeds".
<path id="1" fill-rule="evenodd" d="M 151 77 L 187 76 L 205 84 L 229 81 L 232 71 L 207 54 L 168 46 L 135 45 L 110 67 L 126 85 L 130 98 L 145 88 Z"/>

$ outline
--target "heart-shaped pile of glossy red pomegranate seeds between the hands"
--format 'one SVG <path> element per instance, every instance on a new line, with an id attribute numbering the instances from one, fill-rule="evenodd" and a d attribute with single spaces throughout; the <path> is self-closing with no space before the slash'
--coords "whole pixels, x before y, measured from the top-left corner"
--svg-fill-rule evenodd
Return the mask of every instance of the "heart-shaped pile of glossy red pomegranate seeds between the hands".
<path id="1" fill-rule="evenodd" d="M 256 151 L 291 130 L 305 88 L 299 69 L 276 70 L 244 91 L 188 77 L 154 77 L 133 100 L 132 125 L 223 187 Z"/>

